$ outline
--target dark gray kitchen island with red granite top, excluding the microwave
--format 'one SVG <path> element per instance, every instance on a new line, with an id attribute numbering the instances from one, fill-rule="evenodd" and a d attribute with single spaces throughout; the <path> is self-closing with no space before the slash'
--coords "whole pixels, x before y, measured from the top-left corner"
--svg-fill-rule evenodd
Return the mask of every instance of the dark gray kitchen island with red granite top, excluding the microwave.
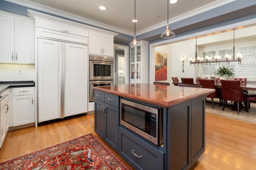
<path id="1" fill-rule="evenodd" d="M 94 87 L 94 131 L 134 169 L 190 169 L 205 150 L 205 100 L 212 92 L 144 83 Z M 160 145 L 120 124 L 121 99 L 161 109 Z"/>

